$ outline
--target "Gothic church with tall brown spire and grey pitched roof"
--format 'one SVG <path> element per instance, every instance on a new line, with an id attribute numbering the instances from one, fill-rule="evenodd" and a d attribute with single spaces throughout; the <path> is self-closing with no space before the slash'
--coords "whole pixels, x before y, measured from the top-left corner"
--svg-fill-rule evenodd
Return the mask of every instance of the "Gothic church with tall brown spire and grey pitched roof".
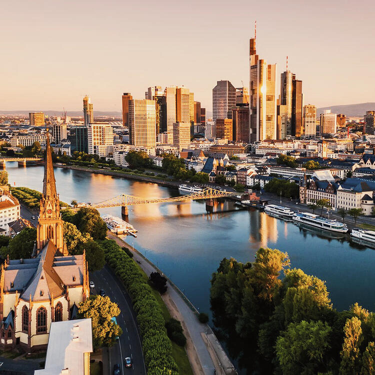
<path id="1" fill-rule="evenodd" d="M 47 133 L 37 239 L 29 259 L 6 259 L 0 276 L 0 348 L 44 349 L 53 321 L 74 319 L 89 296 L 85 254 L 69 256 Z"/>

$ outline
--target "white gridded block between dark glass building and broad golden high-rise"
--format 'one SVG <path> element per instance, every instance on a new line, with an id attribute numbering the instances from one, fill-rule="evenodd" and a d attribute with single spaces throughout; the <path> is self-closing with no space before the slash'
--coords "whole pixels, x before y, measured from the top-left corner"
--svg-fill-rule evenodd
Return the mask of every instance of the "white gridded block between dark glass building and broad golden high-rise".
<path id="1" fill-rule="evenodd" d="M 106 157 L 113 151 L 113 128 L 109 122 L 89 123 L 87 126 L 88 153 Z"/>

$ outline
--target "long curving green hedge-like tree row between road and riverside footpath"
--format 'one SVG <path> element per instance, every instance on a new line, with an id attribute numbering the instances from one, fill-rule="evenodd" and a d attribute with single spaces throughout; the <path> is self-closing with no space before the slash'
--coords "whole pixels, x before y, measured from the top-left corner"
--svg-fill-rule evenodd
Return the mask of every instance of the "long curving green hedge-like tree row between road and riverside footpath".
<path id="1" fill-rule="evenodd" d="M 147 374 L 177 375 L 178 367 L 172 357 L 172 344 L 166 333 L 165 320 L 147 280 L 113 239 L 104 239 L 101 245 L 106 262 L 123 281 L 133 302 Z"/>

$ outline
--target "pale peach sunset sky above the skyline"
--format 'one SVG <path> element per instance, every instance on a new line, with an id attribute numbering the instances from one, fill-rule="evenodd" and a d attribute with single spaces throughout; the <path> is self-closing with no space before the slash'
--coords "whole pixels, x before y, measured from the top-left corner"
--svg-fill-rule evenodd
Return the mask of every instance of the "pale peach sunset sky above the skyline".
<path id="1" fill-rule="evenodd" d="M 121 110 L 122 92 L 248 86 L 248 39 L 318 107 L 375 101 L 372 0 L 19 0 L 0 11 L 0 110 Z M 279 91 L 279 85 L 278 85 Z"/>

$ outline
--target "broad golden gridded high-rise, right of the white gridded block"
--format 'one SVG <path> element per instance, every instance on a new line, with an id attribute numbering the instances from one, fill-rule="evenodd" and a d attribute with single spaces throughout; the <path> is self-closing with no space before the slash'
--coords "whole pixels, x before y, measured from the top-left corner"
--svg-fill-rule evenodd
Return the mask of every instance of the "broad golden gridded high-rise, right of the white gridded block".
<path id="1" fill-rule="evenodd" d="M 129 143 L 134 146 L 156 146 L 155 100 L 129 100 Z"/>

